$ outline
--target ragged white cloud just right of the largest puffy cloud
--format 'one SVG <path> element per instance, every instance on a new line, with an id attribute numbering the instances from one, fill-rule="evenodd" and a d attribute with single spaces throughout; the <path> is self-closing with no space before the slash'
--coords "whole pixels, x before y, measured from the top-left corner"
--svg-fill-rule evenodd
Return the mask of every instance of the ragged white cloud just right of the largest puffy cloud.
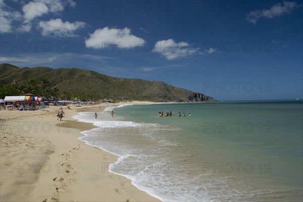
<path id="1" fill-rule="evenodd" d="M 157 41 L 153 48 L 154 53 L 160 53 L 167 60 L 188 57 L 196 54 L 199 48 L 192 48 L 186 42 L 175 42 L 174 39 Z"/>

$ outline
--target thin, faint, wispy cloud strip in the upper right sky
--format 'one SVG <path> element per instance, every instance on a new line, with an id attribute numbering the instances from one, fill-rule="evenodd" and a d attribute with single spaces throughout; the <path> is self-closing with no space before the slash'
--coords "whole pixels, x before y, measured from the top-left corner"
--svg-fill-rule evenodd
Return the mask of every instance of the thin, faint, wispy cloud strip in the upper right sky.
<path id="1" fill-rule="evenodd" d="M 302 5 L 297 5 L 296 2 L 283 1 L 283 5 L 281 5 L 280 3 L 275 4 L 269 10 L 250 11 L 249 14 L 246 15 L 246 19 L 248 22 L 256 24 L 259 18 L 274 18 L 286 13 L 290 13 L 294 9 L 299 8 L 301 6 Z"/>

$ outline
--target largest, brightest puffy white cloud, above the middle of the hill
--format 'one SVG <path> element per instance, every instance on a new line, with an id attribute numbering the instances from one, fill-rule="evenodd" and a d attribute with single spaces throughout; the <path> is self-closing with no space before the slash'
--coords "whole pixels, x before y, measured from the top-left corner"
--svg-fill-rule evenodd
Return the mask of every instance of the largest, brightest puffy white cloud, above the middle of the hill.
<path id="1" fill-rule="evenodd" d="M 129 48 L 132 46 L 139 46 L 145 42 L 144 39 L 131 34 L 129 28 L 115 29 L 105 27 L 103 29 L 96 29 L 89 38 L 85 39 L 86 47 L 105 48 L 109 45 L 116 45 L 122 48 Z"/>

